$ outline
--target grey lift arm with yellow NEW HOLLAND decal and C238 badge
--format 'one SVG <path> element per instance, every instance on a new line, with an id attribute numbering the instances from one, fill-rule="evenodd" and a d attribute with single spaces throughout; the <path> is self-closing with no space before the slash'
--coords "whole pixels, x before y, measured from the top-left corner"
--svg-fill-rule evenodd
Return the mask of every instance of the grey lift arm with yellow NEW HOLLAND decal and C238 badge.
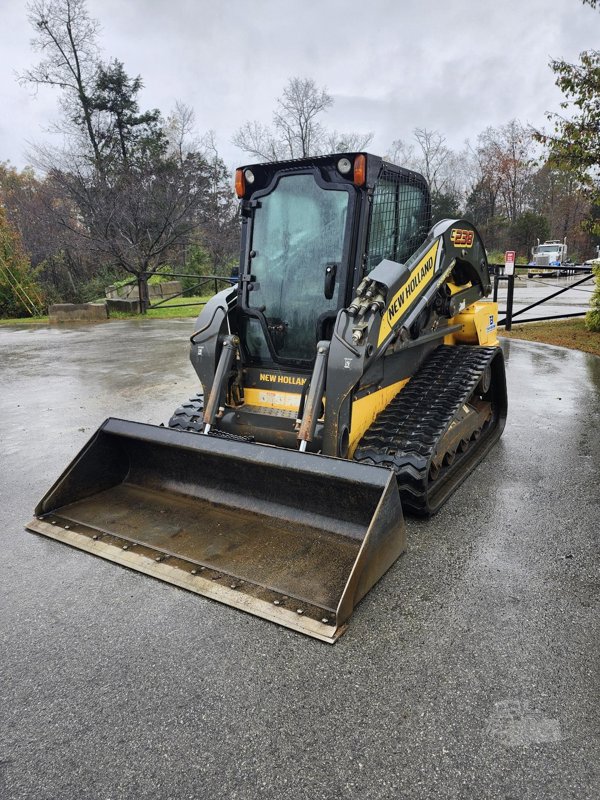
<path id="1" fill-rule="evenodd" d="M 352 390 L 390 345 L 448 333 L 447 320 L 489 294 L 485 249 L 473 225 L 443 220 L 407 261 L 382 261 L 338 314 L 327 369 L 323 452 L 345 455 Z"/>

